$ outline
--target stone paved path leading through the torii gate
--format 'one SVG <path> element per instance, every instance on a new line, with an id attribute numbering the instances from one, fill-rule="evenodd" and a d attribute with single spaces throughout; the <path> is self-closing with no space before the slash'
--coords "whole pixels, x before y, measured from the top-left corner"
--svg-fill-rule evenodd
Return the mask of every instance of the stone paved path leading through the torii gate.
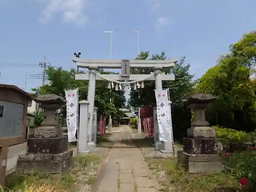
<path id="1" fill-rule="evenodd" d="M 121 126 L 93 192 L 156 192 L 158 183 L 151 177 L 139 148 L 131 142 L 131 128 Z"/>

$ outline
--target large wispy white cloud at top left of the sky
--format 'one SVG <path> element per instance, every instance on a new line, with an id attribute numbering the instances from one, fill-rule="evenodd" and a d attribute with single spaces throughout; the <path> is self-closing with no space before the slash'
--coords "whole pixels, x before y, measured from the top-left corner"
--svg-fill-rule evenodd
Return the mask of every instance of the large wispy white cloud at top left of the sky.
<path id="1" fill-rule="evenodd" d="M 42 11 L 40 22 L 50 22 L 56 15 L 61 15 L 61 21 L 78 26 L 88 21 L 84 13 L 88 5 L 87 0 L 45 0 L 45 9 Z"/>

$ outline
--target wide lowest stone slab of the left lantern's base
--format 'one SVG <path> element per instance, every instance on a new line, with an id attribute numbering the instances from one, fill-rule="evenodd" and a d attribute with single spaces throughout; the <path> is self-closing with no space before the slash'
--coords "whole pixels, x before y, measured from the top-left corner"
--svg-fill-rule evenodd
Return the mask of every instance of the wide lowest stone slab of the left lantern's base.
<path id="1" fill-rule="evenodd" d="M 19 174 L 59 174 L 73 167 L 73 150 L 59 154 L 19 155 L 16 171 Z"/>

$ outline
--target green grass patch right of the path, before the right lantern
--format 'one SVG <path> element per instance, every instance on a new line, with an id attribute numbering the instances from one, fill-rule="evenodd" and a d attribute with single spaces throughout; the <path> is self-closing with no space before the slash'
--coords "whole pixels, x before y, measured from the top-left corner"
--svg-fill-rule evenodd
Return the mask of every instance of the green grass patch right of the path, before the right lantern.
<path id="1" fill-rule="evenodd" d="M 237 192 L 239 182 L 227 174 L 188 174 L 172 159 L 146 158 L 148 166 L 154 170 L 163 191 L 173 192 Z"/>

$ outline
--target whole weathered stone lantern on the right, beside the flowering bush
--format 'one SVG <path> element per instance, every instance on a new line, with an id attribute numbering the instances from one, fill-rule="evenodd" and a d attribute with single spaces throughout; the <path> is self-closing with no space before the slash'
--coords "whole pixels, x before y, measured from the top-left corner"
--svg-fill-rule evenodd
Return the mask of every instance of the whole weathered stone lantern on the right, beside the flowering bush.
<path id="1" fill-rule="evenodd" d="M 219 152 L 219 140 L 215 129 L 205 120 L 208 104 L 216 97 L 211 94 L 194 93 L 186 97 L 188 108 L 194 112 L 191 127 L 187 129 L 184 148 L 178 157 L 184 158 L 183 163 L 188 173 L 214 173 L 223 168 Z"/>

